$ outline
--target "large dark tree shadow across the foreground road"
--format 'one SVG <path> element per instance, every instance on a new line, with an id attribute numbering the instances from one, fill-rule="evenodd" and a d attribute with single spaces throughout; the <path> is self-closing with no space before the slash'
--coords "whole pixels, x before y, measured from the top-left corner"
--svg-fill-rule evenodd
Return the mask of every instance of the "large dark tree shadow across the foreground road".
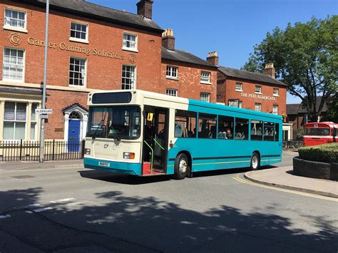
<path id="1" fill-rule="evenodd" d="M 42 193 L 41 188 L 2 191 L 0 201 L 1 205 L 6 205 L 6 200 L 15 205 L 36 204 Z M 0 220 L 0 237 L 10 234 L 48 252 L 81 247 L 89 250 L 93 246 L 96 250 L 127 252 L 335 252 L 338 247 L 337 230 L 332 227 L 334 217 L 307 217 L 317 227 L 309 233 L 273 214 L 282 208 L 276 205 L 265 213 L 260 207 L 245 213 L 227 205 L 196 212 L 155 197 L 130 197 L 118 191 L 98 192 L 96 197 L 102 200 L 100 205 L 56 205 L 48 212 L 30 215 L 25 210 L 12 211 L 12 217 Z M 8 240 L 0 239 L 0 249 L 6 243 Z M 7 245 L 7 249 L 11 246 L 15 248 Z"/>

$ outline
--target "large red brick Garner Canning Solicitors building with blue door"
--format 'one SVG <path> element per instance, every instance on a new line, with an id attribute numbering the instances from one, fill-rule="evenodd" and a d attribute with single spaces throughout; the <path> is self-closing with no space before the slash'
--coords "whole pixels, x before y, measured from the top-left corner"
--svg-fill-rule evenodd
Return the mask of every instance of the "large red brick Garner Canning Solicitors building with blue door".
<path id="1" fill-rule="evenodd" d="M 68 140 L 68 124 L 86 132 L 89 91 L 138 88 L 160 92 L 163 29 L 152 0 L 138 14 L 81 0 L 50 4 L 46 139 Z M 39 139 L 46 2 L 0 1 L 0 140 Z M 77 123 L 76 123 L 77 121 Z"/>

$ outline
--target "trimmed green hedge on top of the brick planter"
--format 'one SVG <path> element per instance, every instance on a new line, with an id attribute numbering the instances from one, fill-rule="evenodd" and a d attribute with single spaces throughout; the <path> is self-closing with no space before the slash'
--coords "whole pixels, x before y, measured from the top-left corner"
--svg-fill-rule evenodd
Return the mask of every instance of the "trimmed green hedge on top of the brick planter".
<path id="1" fill-rule="evenodd" d="M 299 158 L 304 160 L 338 163 L 338 143 L 302 147 L 298 153 Z"/>

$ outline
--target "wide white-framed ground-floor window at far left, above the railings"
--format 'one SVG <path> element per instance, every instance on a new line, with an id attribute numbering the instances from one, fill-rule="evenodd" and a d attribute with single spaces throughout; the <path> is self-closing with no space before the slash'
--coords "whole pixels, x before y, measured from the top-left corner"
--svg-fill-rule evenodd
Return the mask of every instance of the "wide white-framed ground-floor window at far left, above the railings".
<path id="1" fill-rule="evenodd" d="M 26 137 L 26 103 L 5 102 L 4 140 L 24 140 Z"/>

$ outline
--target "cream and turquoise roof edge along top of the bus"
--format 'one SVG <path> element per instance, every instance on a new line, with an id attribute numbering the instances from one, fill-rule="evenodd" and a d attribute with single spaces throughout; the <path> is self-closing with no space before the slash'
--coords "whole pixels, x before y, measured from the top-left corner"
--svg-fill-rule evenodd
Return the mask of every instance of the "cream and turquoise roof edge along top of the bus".
<path id="1" fill-rule="evenodd" d="M 271 113 L 262 113 L 262 112 L 257 112 L 255 110 L 247 110 L 247 109 L 242 109 L 242 108 L 235 108 L 235 107 L 228 106 L 228 105 L 220 105 L 220 104 L 217 104 L 217 103 L 208 103 L 208 102 L 203 102 L 203 101 L 200 101 L 200 100 L 174 97 L 174 96 L 150 92 L 150 91 L 113 90 L 113 91 L 97 91 L 97 92 L 91 92 L 89 94 L 93 95 L 95 93 L 121 93 L 121 92 L 123 92 L 123 93 L 130 92 L 130 93 L 133 93 L 134 95 L 140 95 L 140 96 L 143 96 L 143 97 L 146 97 L 146 98 L 165 100 L 165 101 L 168 101 L 168 102 L 183 103 L 183 104 L 187 104 L 187 105 L 195 105 L 195 106 L 198 106 L 198 107 L 201 107 L 201 108 L 226 110 L 226 111 L 230 111 L 230 112 L 233 112 L 233 113 L 241 113 L 241 114 L 247 114 L 247 115 L 257 115 L 257 116 L 260 116 L 260 117 L 273 118 L 275 120 L 282 120 L 282 116 L 274 115 L 274 114 L 271 114 Z"/>

